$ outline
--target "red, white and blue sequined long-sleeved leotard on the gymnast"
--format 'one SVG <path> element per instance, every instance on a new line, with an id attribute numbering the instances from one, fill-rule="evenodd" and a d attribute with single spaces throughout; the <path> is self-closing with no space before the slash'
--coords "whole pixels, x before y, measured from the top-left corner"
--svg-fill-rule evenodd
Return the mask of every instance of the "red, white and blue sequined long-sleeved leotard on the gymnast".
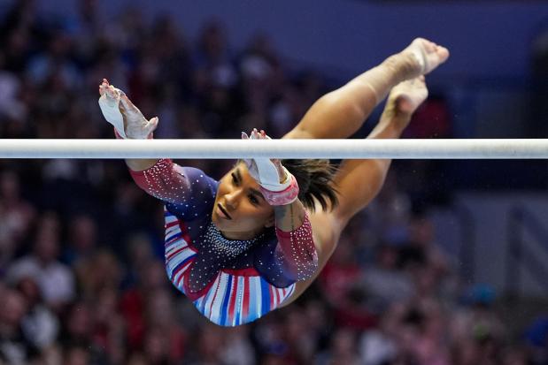
<path id="1" fill-rule="evenodd" d="M 211 218 L 219 183 L 203 171 L 162 159 L 130 172 L 166 202 L 168 277 L 213 323 L 235 326 L 266 315 L 317 269 L 308 217 L 293 232 L 273 227 L 253 240 L 228 240 Z"/>

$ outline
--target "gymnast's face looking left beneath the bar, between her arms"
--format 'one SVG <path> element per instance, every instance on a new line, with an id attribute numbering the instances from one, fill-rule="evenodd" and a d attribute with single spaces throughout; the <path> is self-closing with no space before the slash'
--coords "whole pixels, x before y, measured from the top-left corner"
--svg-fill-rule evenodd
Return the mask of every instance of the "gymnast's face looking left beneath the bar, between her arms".
<path id="1" fill-rule="evenodd" d="M 274 225 L 274 209 L 265 201 L 245 163 L 237 163 L 220 179 L 212 221 L 229 240 L 251 240 Z"/>

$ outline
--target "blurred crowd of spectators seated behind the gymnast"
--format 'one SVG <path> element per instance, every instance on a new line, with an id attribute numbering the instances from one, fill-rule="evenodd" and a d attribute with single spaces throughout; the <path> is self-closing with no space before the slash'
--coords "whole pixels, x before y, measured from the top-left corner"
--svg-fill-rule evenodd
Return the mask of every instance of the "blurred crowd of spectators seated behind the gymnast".
<path id="1" fill-rule="evenodd" d="M 334 87 L 289 69 L 266 34 L 233 49 L 219 21 L 189 39 L 169 16 L 104 21 L 96 1 L 79 4 L 74 19 L 41 18 L 32 0 L 2 14 L 1 138 L 113 138 L 103 78 L 159 117 L 157 139 L 280 137 Z M 436 98 L 413 123 L 412 136 L 451 133 Z M 220 178 L 231 162 L 179 163 Z M 516 336 L 436 244 L 431 171 L 396 163 L 303 297 L 227 329 L 166 278 L 161 204 L 123 162 L 0 160 L 0 364 L 548 364 L 548 320 Z"/>

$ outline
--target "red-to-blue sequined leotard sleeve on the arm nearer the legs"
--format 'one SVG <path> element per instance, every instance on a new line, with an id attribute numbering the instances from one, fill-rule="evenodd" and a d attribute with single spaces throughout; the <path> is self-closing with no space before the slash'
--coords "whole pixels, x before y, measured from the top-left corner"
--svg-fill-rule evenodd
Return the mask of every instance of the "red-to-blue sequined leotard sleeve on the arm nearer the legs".
<path id="1" fill-rule="evenodd" d="M 295 231 L 283 232 L 276 227 L 276 236 L 274 249 L 264 247 L 255 256 L 255 268 L 261 276 L 278 287 L 312 278 L 318 270 L 318 255 L 308 215 Z"/>

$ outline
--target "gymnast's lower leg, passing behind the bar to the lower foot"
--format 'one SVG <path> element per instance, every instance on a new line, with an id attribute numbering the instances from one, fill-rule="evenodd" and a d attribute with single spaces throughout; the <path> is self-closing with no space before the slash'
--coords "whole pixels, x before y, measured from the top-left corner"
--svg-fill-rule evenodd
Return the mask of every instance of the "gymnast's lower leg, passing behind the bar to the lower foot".
<path id="1" fill-rule="evenodd" d="M 407 80 L 390 92 L 381 120 L 367 138 L 397 138 L 409 124 L 414 110 L 428 96 L 424 77 Z M 381 190 L 391 160 L 344 160 L 336 173 L 339 205 L 332 212 L 317 210 L 310 215 L 319 268 L 313 278 L 297 282 L 295 292 L 283 302 L 296 300 L 320 274 L 336 249 L 344 227 L 359 210 L 364 209 Z"/>

